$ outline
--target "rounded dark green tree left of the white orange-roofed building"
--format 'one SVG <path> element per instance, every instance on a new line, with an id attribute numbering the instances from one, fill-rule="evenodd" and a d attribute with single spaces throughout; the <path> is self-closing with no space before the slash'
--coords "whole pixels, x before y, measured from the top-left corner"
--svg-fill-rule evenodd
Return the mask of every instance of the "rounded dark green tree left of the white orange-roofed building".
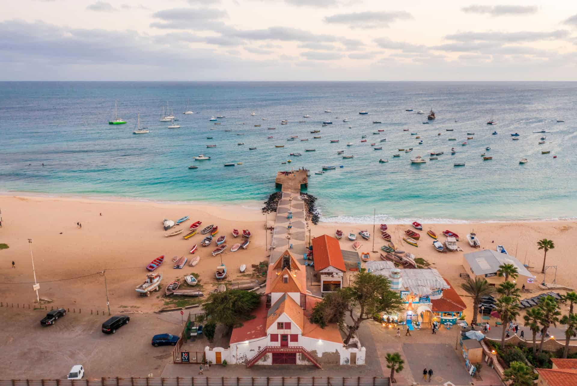
<path id="1" fill-rule="evenodd" d="M 243 321 L 254 318 L 250 312 L 259 304 L 260 294 L 242 290 L 228 290 L 210 294 L 203 308 L 216 324 L 224 324 L 230 330 L 235 326 L 242 325 Z"/>

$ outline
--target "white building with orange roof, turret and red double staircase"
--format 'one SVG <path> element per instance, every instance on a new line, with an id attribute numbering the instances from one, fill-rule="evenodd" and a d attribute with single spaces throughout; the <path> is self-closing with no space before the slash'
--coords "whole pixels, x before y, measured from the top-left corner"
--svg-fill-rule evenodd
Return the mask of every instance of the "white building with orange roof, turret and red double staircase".
<path id="1" fill-rule="evenodd" d="M 364 365 L 365 348 L 357 340 L 345 347 L 338 325 L 325 328 L 309 318 L 321 301 L 306 290 L 305 266 L 288 251 L 269 266 L 267 286 L 254 318 L 233 329 L 228 348 L 205 348 L 209 361 L 231 364 Z"/>

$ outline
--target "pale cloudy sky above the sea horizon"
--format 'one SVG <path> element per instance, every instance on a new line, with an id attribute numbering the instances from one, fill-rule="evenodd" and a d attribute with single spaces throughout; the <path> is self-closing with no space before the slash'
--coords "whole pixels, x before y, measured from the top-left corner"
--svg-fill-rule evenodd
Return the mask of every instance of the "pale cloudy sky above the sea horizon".
<path id="1" fill-rule="evenodd" d="M 570 80 L 577 2 L 0 2 L 0 80 Z"/>

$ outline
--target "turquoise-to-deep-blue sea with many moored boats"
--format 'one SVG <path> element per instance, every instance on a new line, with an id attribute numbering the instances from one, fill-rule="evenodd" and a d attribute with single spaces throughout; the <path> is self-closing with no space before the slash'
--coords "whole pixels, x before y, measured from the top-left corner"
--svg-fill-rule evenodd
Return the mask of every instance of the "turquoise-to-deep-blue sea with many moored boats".
<path id="1" fill-rule="evenodd" d="M 115 100 L 126 125 L 108 125 Z M 187 100 L 193 115 L 182 114 Z M 159 122 L 167 103 L 180 129 Z M 424 125 L 426 114 L 417 110 L 431 108 L 437 119 Z M 150 133 L 132 133 L 138 113 Z M 226 118 L 214 125 L 213 115 Z M 489 119 L 498 124 L 486 125 Z M 322 127 L 325 120 L 332 125 Z M 373 209 L 388 222 L 575 218 L 576 122 L 577 83 L 0 83 L 0 190 L 256 207 L 274 190 L 276 171 L 305 166 L 308 192 L 319 198 L 325 221 L 370 222 Z M 315 129 L 321 132 L 310 133 Z M 550 133 L 533 133 L 541 129 Z M 474 138 L 467 140 L 467 132 Z M 542 135 L 546 143 L 539 145 Z M 305 152 L 310 148 L 316 151 Z M 343 159 L 340 149 L 354 159 Z M 444 155 L 429 161 L 431 151 Z M 484 152 L 493 159 L 484 161 Z M 193 160 L 198 154 L 212 159 Z M 417 155 L 428 162 L 411 164 Z M 529 162 L 519 164 L 522 157 Z M 224 167 L 228 162 L 243 164 Z M 323 165 L 337 168 L 314 174 Z"/>

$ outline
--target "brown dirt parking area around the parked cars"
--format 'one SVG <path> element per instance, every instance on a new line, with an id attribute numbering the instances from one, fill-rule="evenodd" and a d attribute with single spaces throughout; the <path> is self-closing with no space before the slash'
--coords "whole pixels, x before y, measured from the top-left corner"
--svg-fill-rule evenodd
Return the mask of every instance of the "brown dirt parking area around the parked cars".
<path id="1" fill-rule="evenodd" d="M 162 320 L 157 314 L 129 314 L 129 324 L 114 335 L 100 331 L 108 316 L 66 313 L 56 324 L 42 327 L 44 314 L 0 308 L 1 378 L 66 378 L 73 365 L 83 365 L 88 378 L 158 377 L 171 362 L 173 347 L 152 347 L 152 336 L 182 332 L 179 320 Z"/>

